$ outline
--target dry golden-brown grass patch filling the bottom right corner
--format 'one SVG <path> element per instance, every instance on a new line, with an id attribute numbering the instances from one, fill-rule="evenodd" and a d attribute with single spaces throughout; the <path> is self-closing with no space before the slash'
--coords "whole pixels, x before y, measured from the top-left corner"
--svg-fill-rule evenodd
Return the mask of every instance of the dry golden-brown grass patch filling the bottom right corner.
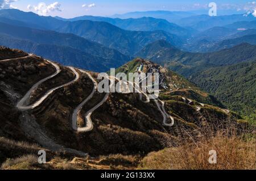
<path id="1" fill-rule="evenodd" d="M 217 164 L 209 163 L 210 150 L 217 151 Z M 142 160 L 141 169 L 256 169 L 255 154 L 255 139 L 218 132 L 211 138 L 150 153 Z"/>

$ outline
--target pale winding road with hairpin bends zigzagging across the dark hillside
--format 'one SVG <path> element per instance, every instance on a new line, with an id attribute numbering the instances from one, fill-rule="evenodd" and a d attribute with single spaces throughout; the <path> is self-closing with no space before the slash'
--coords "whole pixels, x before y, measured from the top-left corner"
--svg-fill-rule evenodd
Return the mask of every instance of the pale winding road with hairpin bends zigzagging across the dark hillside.
<path id="1" fill-rule="evenodd" d="M 26 58 L 26 57 L 31 57 L 33 56 L 32 54 L 28 54 L 28 56 L 25 56 L 25 57 L 18 57 L 18 58 L 10 58 L 10 59 L 7 59 L 7 60 L 1 60 L 0 62 L 5 62 L 5 61 L 11 61 L 11 60 L 18 60 L 20 58 Z M 54 87 L 50 90 L 48 90 L 46 92 L 46 94 L 44 94 L 39 100 L 37 100 L 34 104 L 31 104 L 31 105 L 26 105 L 28 103 L 28 100 L 30 99 L 30 96 L 32 94 L 32 91 L 34 91 L 40 84 L 42 84 L 43 82 L 47 81 L 48 79 L 51 79 L 53 77 L 55 77 L 56 75 L 58 75 L 61 71 L 59 65 L 51 62 L 51 61 L 48 61 L 46 60 L 49 64 L 52 64 L 56 71 L 55 73 L 53 73 L 52 75 L 50 75 L 49 77 L 47 78 L 44 78 L 42 79 L 41 81 L 35 83 L 35 85 L 33 85 L 31 87 L 31 89 L 26 93 L 26 95 L 23 96 L 23 98 L 16 104 L 16 107 L 20 110 L 20 111 L 27 111 L 27 110 L 32 110 L 36 107 L 38 107 L 40 104 L 43 103 L 44 100 L 46 100 L 46 98 L 48 98 L 49 95 L 51 95 L 55 90 L 57 89 L 60 89 L 61 87 L 65 87 L 65 86 L 69 86 L 71 85 L 72 83 L 76 82 L 79 78 L 80 78 L 80 75 L 79 73 L 77 73 L 77 71 L 72 68 L 72 67 L 68 67 L 69 69 L 71 69 L 73 71 L 73 73 L 76 75 L 75 79 L 73 79 L 71 82 L 68 82 L 68 83 L 65 83 L 64 85 L 61 85 L 61 86 L 57 86 L 57 87 Z M 93 129 L 93 123 L 92 123 L 92 119 L 91 119 L 91 115 L 94 111 L 97 110 L 97 108 L 99 108 L 102 104 L 104 104 L 106 102 L 106 100 L 108 100 L 109 98 L 109 95 L 110 93 L 106 93 L 106 95 L 104 96 L 104 98 L 101 100 L 100 103 L 98 103 L 96 106 L 94 106 L 91 110 L 87 111 L 85 113 L 85 123 L 86 123 L 86 126 L 85 127 L 77 127 L 77 119 L 78 119 L 78 116 L 81 112 L 81 109 L 82 107 L 90 100 L 92 99 L 93 95 L 95 94 L 96 90 L 97 90 L 97 82 L 95 81 L 95 79 L 92 77 L 92 75 L 90 75 L 88 72 L 84 71 L 84 70 L 80 70 L 81 73 L 85 73 L 88 75 L 88 77 L 92 80 L 93 84 L 94 84 L 94 87 L 93 87 L 93 90 L 92 92 L 90 93 L 90 95 L 83 101 L 79 104 L 79 106 L 77 106 L 75 108 L 75 110 L 73 111 L 72 113 L 72 128 L 77 131 L 77 132 L 89 132 L 89 131 L 92 131 Z M 110 76 L 110 79 L 117 79 L 117 81 L 121 81 L 120 79 L 116 78 L 116 77 L 111 77 Z M 111 82 L 111 85 L 110 87 L 113 86 L 113 83 L 114 81 L 110 81 Z M 129 81 L 126 81 L 126 83 L 128 85 L 132 85 L 133 88 L 135 89 L 135 91 L 137 91 L 139 93 L 139 96 L 140 96 L 140 100 L 142 100 L 142 95 L 144 95 L 146 97 L 146 100 L 144 100 L 143 102 L 144 103 L 150 103 L 150 98 L 149 96 L 144 93 L 143 91 L 141 91 L 140 89 L 137 89 L 136 86 L 139 87 L 139 85 L 137 83 L 135 83 L 135 86 L 134 86 L 134 83 L 133 82 L 129 82 Z M 191 104 L 193 102 L 193 100 L 191 99 L 187 99 L 187 98 L 182 98 L 184 100 L 184 102 L 186 102 L 186 100 L 189 101 L 188 104 Z M 159 102 L 162 104 L 162 106 L 160 106 Z M 164 108 L 164 102 L 160 99 L 155 99 L 155 103 L 156 103 L 156 106 L 158 107 L 159 111 L 162 113 L 163 115 L 163 124 L 167 127 L 172 127 L 174 125 L 174 117 L 172 117 L 171 115 L 168 115 L 168 113 L 166 112 L 165 108 Z M 201 106 L 204 107 L 204 104 L 200 103 Z M 201 110 L 201 107 L 196 107 L 197 110 L 196 111 L 200 111 Z M 230 111 L 229 110 L 222 110 L 222 111 L 225 111 L 226 113 L 229 113 Z M 171 120 L 171 123 L 167 123 L 167 119 L 170 119 Z"/>

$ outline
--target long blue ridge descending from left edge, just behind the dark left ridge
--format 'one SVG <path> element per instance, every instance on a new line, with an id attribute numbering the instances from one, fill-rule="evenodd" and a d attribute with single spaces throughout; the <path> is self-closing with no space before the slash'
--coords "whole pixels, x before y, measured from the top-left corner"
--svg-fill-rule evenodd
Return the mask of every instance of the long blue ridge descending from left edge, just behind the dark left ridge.
<path id="1" fill-rule="evenodd" d="M 28 13 L 19 10 L 0 10 L 0 17 L 11 19 L 12 22 L 15 20 L 19 22 L 18 24 L 23 22 L 23 26 L 28 24 L 29 27 L 42 30 L 73 33 L 106 47 L 117 49 L 119 52 L 129 56 L 133 56 L 145 45 L 156 40 L 167 40 L 176 46 L 182 44 L 182 39 L 168 32 L 127 31 L 106 22 L 92 22 L 90 20 L 65 22 L 51 16 L 39 16 L 32 12 Z"/>

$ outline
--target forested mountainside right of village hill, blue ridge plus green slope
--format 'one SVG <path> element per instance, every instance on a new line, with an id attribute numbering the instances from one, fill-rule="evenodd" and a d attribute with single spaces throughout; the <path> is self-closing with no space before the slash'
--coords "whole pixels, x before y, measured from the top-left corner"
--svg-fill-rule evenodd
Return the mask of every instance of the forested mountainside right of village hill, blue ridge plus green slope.
<path id="1" fill-rule="evenodd" d="M 250 115 L 255 113 L 255 53 L 255 45 L 250 44 L 200 54 L 182 52 L 158 41 L 142 49 L 140 55 L 189 77 L 231 110 Z"/>

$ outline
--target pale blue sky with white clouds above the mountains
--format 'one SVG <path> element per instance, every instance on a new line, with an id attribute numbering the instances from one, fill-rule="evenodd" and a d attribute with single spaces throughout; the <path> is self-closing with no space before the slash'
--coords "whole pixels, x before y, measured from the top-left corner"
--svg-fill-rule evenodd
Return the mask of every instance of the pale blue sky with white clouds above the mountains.
<path id="1" fill-rule="evenodd" d="M 5 2 L 7 0 L 0 0 Z M 130 11 L 147 10 L 170 10 L 170 11 L 189 11 L 198 9 L 208 9 L 210 2 L 216 2 L 220 10 L 243 10 L 250 5 L 254 8 L 252 1 L 244 0 L 9 0 L 16 1 L 11 3 L 12 7 L 23 11 L 33 11 L 40 15 L 61 16 L 72 18 L 80 15 L 113 15 L 122 14 Z M 39 4 L 40 3 L 40 4 Z M 28 5 L 29 9 L 27 8 Z M 84 5 L 82 7 L 82 5 Z M 250 7 L 250 8 L 251 8 Z M 255 6 L 256 7 L 256 6 Z"/>

